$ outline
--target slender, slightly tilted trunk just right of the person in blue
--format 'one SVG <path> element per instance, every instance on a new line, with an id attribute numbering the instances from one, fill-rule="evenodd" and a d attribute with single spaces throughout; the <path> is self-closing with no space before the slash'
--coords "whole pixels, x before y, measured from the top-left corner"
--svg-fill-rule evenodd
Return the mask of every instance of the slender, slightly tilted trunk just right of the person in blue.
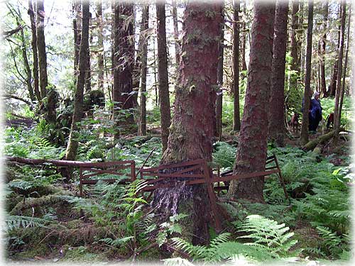
<path id="1" fill-rule="evenodd" d="M 342 94 L 342 67 L 343 67 L 343 54 L 344 54 L 344 33 L 345 33 L 345 17 L 346 17 L 346 1 L 342 0 L 342 21 L 340 24 L 340 47 L 338 55 L 338 73 L 337 73 L 337 89 L 335 91 L 335 106 L 334 106 L 334 129 L 339 131 L 340 128 L 340 112 L 339 112 L 339 99 Z M 336 134 L 337 135 L 337 134 Z M 337 142 L 337 138 L 334 138 Z"/>

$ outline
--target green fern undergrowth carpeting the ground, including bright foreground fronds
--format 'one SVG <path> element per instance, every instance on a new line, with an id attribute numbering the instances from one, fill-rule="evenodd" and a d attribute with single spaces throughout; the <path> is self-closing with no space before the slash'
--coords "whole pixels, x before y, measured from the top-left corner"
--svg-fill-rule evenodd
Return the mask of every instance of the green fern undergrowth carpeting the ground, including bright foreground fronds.
<path id="1" fill-rule="evenodd" d="M 88 133 L 89 134 L 89 133 Z M 92 133 L 93 135 L 96 133 Z M 80 143 L 79 160 L 135 160 L 138 167 L 159 164 L 160 139 L 121 139 L 107 148 L 104 140 L 91 135 Z M 103 137 L 104 138 L 104 137 Z M 29 131 L 6 131 L 6 155 L 60 158 L 64 148 L 38 138 Z M 214 144 L 213 166 L 229 170 L 236 148 Z M 349 260 L 349 185 L 354 184 L 349 150 L 324 157 L 288 146 L 270 148 L 277 155 L 291 205 L 285 199 L 277 177 L 266 179 L 266 204 L 224 201 L 231 219 L 225 232 L 207 246 L 193 246 L 180 238 L 180 221 L 186 215 L 158 223 L 146 198 L 138 194 L 144 182 L 131 185 L 99 182 L 87 187 L 91 195 L 77 197 L 78 177 L 69 184 L 56 167 L 8 165 L 6 168 L 6 251 L 10 260 L 51 260 L 54 262 L 161 261 L 167 265 L 191 262 L 256 263 L 308 260 Z M 222 192 L 221 197 L 224 197 Z M 167 247 L 181 250 L 167 252 Z"/>

